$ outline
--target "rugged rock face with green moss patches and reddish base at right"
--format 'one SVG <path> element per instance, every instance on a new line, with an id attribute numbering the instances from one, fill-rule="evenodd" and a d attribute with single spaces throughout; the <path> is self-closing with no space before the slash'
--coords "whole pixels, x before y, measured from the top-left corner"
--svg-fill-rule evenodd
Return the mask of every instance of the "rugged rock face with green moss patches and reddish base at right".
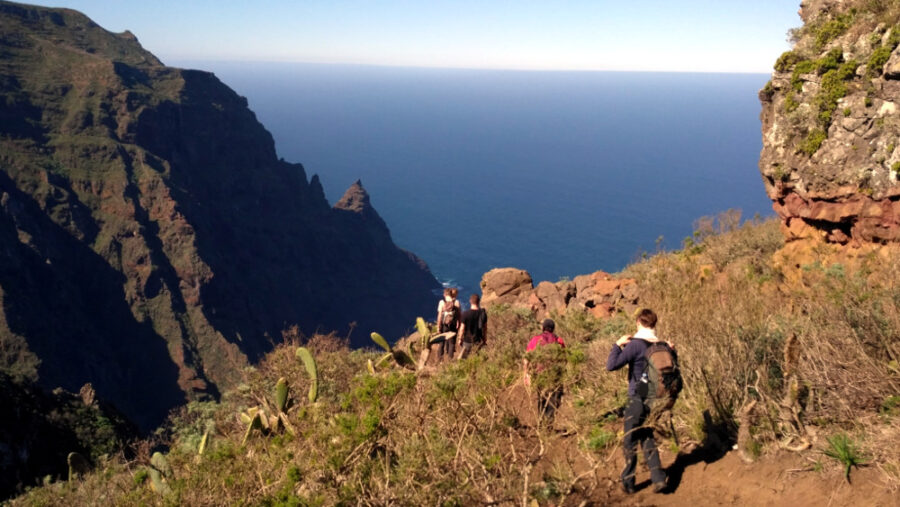
<path id="1" fill-rule="evenodd" d="M 900 241 L 900 4 L 804 0 L 760 92 L 760 170 L 788 240 Z"/>

